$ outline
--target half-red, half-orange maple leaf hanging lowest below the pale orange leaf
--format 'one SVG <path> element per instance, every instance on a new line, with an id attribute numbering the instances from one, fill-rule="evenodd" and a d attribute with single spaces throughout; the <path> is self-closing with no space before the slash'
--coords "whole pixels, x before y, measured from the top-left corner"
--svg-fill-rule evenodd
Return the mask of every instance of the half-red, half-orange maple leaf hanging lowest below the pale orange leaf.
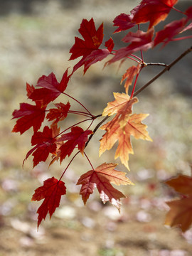
<path id="1" fill-rule="evenodd" d="M 110 183 L 115 185 L 134 185 L 132 181 L 125 176 L 126 173 L 117 171 L 114 168 L 117 164 L 101 164 L 94 170 L 87 171 L 87 173 L 80 176 L 77 185 L 82 185 L 80 195 L 82 201 L 86 204 L 90 194 L 93 193 L 94 188 L 100 193 L 100 198 L 103 203 L 110 201 L 113 206 L 120 210 L 120 198 L 124 198 L 124 194 L 115 189 Z"/>

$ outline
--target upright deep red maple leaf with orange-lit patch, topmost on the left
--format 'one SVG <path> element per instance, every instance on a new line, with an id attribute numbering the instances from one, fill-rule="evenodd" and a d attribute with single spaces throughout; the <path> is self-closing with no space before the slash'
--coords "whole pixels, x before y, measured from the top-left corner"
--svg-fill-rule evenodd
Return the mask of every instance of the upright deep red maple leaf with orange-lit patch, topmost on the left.
<path id="1" fill-rule="evenodd" d="M 70 48 L 70 60 L 75 60 L 80 56 L 82 56 L 82 59 L 74 66 L 73 73 L 85 64 L 85 58 L 90 55 L 92 51 L 97 50 L 100 47 L 103 39 L 103 23 L 96 30 L 93 18 L 91 18 L 90 21 L 83 18 L 82 23 L 80 24 L 79 33 L 84 40 L 75 37 L 75 43 L 72 48 Z"/>

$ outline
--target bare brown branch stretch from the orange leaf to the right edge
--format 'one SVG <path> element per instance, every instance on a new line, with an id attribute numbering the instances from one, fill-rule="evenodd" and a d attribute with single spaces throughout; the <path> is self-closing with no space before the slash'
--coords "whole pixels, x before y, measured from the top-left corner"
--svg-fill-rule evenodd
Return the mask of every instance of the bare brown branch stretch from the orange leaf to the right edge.
<path id="1" fill-rule="evenodd" d="M 152 82 L 154 82 L 157 78 L 159 78 L 161 75 L 163 75 L 166 71 L 170 70 L 170 68 L 172 68 L 176 63 L 178 63 L 179 60 L 181 60 L 181 58 L 183 58 L 185 55 L 187 55 L 188 53 L 190 53 L 192 51 L 192 46 L 190 48 L 188 48 L 187 50 L 185 50 L 180 56 L 178 56 L 178 58 L 176 58 L 173 62 L 171 62 L 169 65 L 166 65 L 166 67 L 156 76 L 154 76 L 154 78 L 152 78 L 149 82 L 147 82 L 145 85 L 143 85 L 139 90 L 137 90 L 136 92 L 134 92 L 133 96 L 138 95 L 140 92 L 142 92 L 146 87 L 148 87 L 149 85 L 151 85 Z"/>

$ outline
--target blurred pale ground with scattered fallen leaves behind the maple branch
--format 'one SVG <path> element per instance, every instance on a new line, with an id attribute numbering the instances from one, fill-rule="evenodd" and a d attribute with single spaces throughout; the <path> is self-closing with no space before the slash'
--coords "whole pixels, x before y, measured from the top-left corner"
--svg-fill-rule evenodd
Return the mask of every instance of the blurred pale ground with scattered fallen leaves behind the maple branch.
<path id="1" fill-rule="evenodd" d="M 26 4 L 27 3 L 27 4 Z M 128 3 L 128 4 L 127 4 Z M 178 173 L 190 174 L 192 112 L 191 55 L 186 56 L 169 73 L 139 95 L 135 112 L 150 113 L 146 119 L 154 142 L 134 141 L 135 155 L 130 157 L 127 174 L 136 186 L 122 188 L 128 196 L 122 213 L 110 205 L 102 206 L 95 194 L 84 207 L 75 186 L 80 174 L 90 169 L 85 158 L 77 157 L 66 172 L 68 193 L 51 220 L 46 219 L 36 232 L 36 209 L 31 195 L 48 177 L 60 177 L 62 166 L 40 164 L 31 170 L 31 160 L 22 169 L 22 161 L 30 146 L 30 132 L 21 137 L 11 134 L 11 113 L 26 100 L 26 81 L 35 85 L 41 75 L 54 72 L 58 80 L 73 64 L 68 51 L 78 36 L 82 18 L 95 18 L 96 26 L 104 21 L 110 35 L 112 19 L 128 12 L 139 1 L 0 1 L 0 256 L 12 255 L 103 255 L 103 256 L 190 256 L 192 231 L 181 234 L 178 229 L 164 227 L 166 204 L 175 196 L 163 184 Z M 190 1 L 181 1 L 185 10 Z M 118 41 L 119 34 L 114 35 Z M 106 36 L 107 39 L 107 36 Z M 161 52 L 149 53 L 146 61 L 169 63 L 191 41 L 172 43 Z M 176 48 L 177 46 L 177 48 Z M 147 57 L 149 56 L 149 57 Z M 129 63 L 127 63 L 129 65 Z M 126 70 L 102 64 L 82 70 L 68 86 L 68 93 L 85 102 L 93 114 L 100 114 L 112 92 L 123 90 L 119 81 Z M 139 86 L 158 73 L 148 68 Z M 62 100 L 62 99 L 61 99 Z M 65 102 L 66 99 L 64 99 Z M 73 121 L 73 120 L 72 120 Z M 100 120 L 98 120 L 99 122 Z M 102 132 L 97 131 L 87 147 L 93 166 L 114 162 L 114 151 L 98 158 Z M 119 169 L 126 171 L 119 164 Z"/>

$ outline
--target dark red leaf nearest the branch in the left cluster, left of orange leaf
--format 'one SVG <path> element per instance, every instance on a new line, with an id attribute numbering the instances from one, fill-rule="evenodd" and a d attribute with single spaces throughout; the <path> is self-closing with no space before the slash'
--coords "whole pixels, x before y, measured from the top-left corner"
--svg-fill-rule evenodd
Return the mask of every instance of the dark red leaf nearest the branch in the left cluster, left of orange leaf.
<path id="1" fill-rule="evenodd" d="M 75 149 L 75 146 L 78 145 L 78 149 L 83 155 L 83 151 L 85 149 L 85 143 L 87 142 L 88 135 L 92 134 L 91 130 L 83 130 L 80 127 L 72 127 L 71 132 L 63 134 L 58 142 L 65 142 L 62 146 L 60 146 L 60 163 L 65 159 L 66 156 L 70 156 L 70 154 Z"/>

